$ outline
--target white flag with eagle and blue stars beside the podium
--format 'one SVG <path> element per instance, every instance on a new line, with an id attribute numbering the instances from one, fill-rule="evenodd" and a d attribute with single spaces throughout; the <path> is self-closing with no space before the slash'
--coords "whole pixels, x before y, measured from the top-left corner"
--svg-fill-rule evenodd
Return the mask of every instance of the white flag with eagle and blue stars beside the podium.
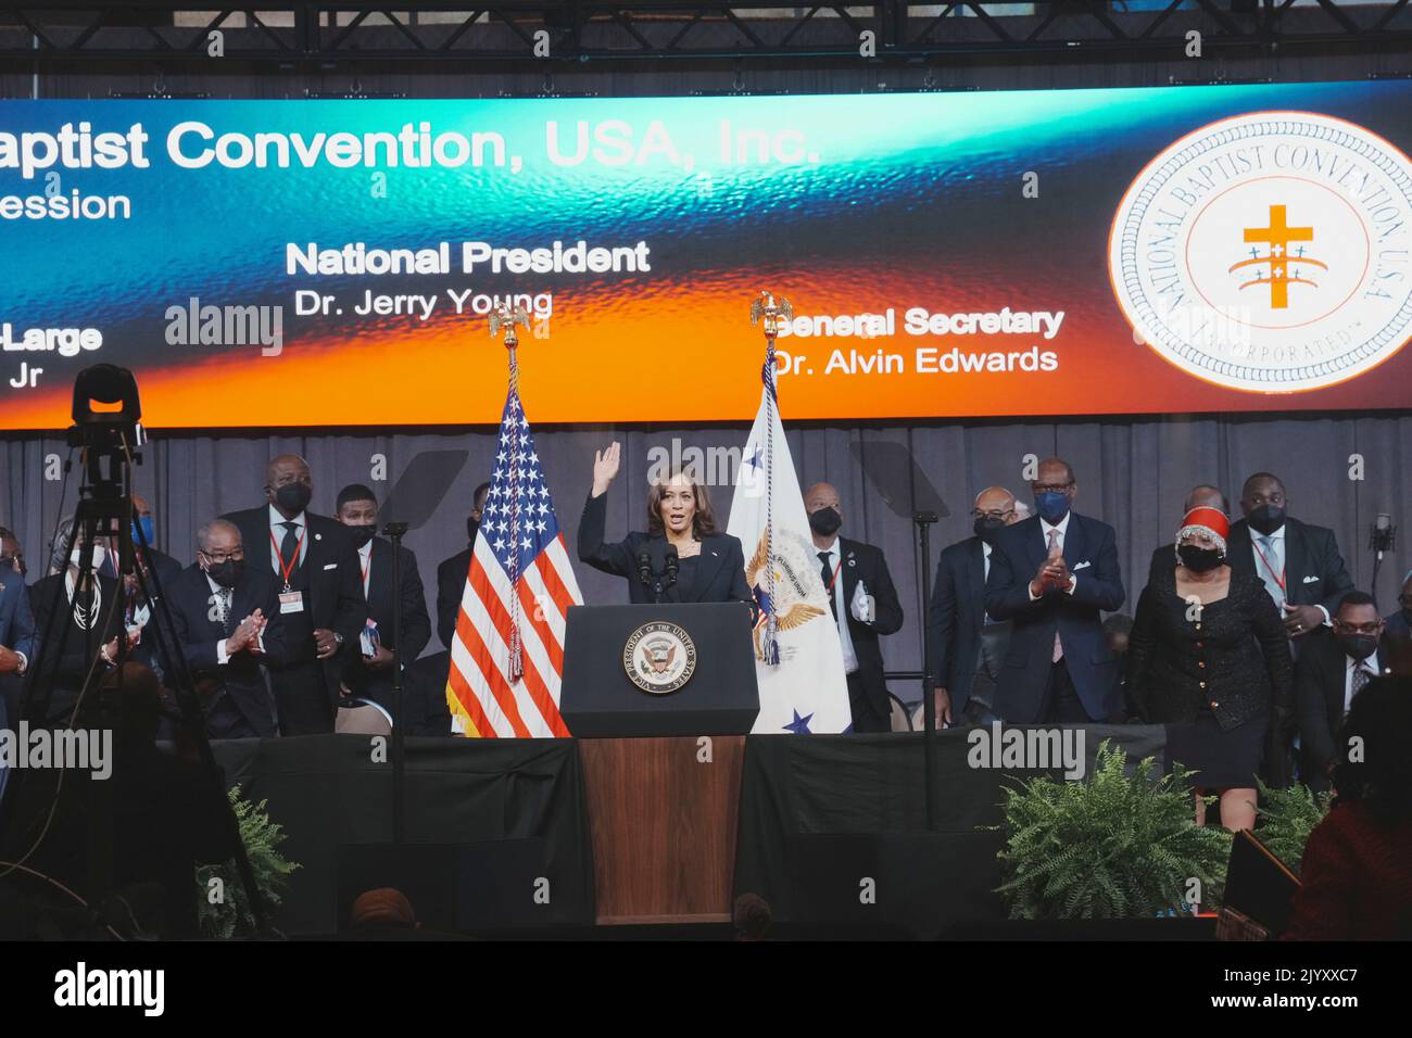
<path id="1" fill-rule="evenodd" d="M 760 716 L 753 732 L 846 732 L 853 713 L 839 628 L 819 576 L 774 376 L 767 362 L 727 528 L 746 551 L 746 580 L 760 604 L 754 630 Z"/>

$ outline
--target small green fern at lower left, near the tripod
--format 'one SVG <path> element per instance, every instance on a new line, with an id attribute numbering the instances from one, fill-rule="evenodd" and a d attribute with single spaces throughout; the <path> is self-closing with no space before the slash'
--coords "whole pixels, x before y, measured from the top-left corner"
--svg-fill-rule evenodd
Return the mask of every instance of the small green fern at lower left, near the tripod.
<path id="1" fill-rule="evenodd" d="M 280 853 L 280 845 L 285 842 L 287 836 L 278 823 L 270 821 L 265 811 L 268 801 L 251 804 L 240 795 L 239 785 L 230 787 L 227 797 L 236 812 L 236 821 L 240 823 L 240 842 L 246 845 L 250 869 L 256 874 L 256 887 L 260 890 L 265 908 L 271 909 L 281 902 L 289 874 L 299 866 Z M 219 880 L 219 884 L 213 880 Z M 219 890 L 222 894 L 215 902 L 212 902 L 213 890 Z M 250 912 L 250 901 L 246 897 L 246 887 L 240 881 L 234 859 L 196 869 L 196 898 L 201 932 L 206 936 L 254 935 L 254 915 Z"/>

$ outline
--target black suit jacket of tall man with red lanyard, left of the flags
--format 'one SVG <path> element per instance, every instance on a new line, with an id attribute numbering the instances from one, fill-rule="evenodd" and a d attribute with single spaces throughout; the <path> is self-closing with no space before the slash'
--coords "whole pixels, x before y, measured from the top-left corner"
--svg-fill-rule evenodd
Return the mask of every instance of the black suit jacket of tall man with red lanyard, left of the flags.
<path id="1" fill-rule="evenodd" d="M 343 636 L 343 645 L 332 658 L 319 661 L 323 675 L 325 692 L 329 700 L 336 703 L 339 698 L 339 678 L 343 661 L 350 655 L 357 655 L 357 638 L 367 623 L 367 600 L 363 597 L 363 576 L 359 569 L 357 549 L 345 527 L 337 520 L 328 515 L 305 514 L 308 551 L 304 555 L 304 575 L 308 580 L 308 600 L 304 603 L 308 612 L 311 628 L 326 628 Z M 258 508 L 246 508 L 223 515 L 229 523 L 240 528 L 240 538 L 246 549 L 247 565 L 264 569 L 275 582 L 275 593 L 281 590 L 282 578 L 274 572 L 270 561 L 270 506 L 261 504 Z M 295 638 L 294 631 L 304 626 L 292 614 L 285 616 L 287 645 L 285 665 L 313 662 L 312 638 Z"/>

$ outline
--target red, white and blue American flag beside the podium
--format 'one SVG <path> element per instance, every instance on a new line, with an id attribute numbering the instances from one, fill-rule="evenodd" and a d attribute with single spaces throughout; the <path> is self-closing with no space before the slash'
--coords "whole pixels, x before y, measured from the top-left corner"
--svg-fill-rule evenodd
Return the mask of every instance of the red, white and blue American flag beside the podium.
<path id="1" fill-rule="evenodd" d="M 446 705 L 467 737 L 563 737 L 563 621 L 583 604 L 534 434 L 510 387 L 490 493 L 460 596 Z"/>

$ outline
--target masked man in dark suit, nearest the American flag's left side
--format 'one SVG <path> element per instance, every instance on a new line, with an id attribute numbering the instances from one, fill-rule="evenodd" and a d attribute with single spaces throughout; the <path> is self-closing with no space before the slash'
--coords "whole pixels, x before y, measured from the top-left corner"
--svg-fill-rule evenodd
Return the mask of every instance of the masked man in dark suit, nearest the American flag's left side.
<path id="1" fill-rule="evenodd" d="M 343 664 L 343 685 L 352 695 L 373 699 L 387 710 L 393 710 L 393 650 L 398 644 L 402 647 L 405 685 L 407 669 L 432 637 L 432 621 L 426 616 L 426 593 L 417 571 L 417 555 L 402 547 L 397 549 L 401 571 L 398 575 L 401 586 L 395 589 L 395 596 L 401 602 L 398 631 L 393 624 L 393 544 L 376 537 L 377 497 L 370 487 L 353 483 L 339 491 L 335 507 L 339 523 L 349 528 L 357 544 L 359 575 L 369 612 L 367 630 L 359 638 L 360 651 L 349 654 Z"/>

